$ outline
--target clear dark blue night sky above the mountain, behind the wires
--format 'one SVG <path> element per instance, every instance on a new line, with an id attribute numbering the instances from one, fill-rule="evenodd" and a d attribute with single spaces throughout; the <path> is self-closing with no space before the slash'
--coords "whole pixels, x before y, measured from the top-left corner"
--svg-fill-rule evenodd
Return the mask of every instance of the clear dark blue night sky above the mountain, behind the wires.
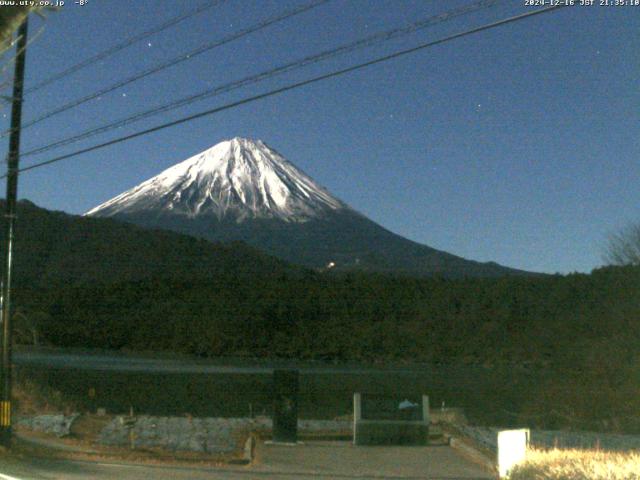
<path id="1" fill-rule="evenodd" d="M 46 20 L 32 18 L 32 36 L 44 29 L 29 48 L 27 86 L 203 2 L 66 3 Z M 303 3 L 228 0 L 27 96 L 24 119 Z M 468 3 L 332 0 L 26 129 L 23 151 Z M 528 8 L 506 0 L 24 158 L 23 166 Z M 246 136 L 412 240 L 521 269 L 590 271 L 601 264 L 607 235 L 640 221 L 639 47 L 640 7 L 565 8 L 30 171 L 19 193 L 83 213 L 219 141 Z"/>

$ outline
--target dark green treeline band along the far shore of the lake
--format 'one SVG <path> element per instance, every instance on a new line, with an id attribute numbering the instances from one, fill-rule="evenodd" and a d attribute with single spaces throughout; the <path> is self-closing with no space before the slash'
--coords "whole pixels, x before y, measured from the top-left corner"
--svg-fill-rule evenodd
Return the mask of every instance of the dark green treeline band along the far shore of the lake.
<path id="1" fill-rule="evenodd" d="M 640 344 L 638 268 L 490 280 L 227 273 L 17 295 L 19 316 L 59 346 L 550 365 Z"/>

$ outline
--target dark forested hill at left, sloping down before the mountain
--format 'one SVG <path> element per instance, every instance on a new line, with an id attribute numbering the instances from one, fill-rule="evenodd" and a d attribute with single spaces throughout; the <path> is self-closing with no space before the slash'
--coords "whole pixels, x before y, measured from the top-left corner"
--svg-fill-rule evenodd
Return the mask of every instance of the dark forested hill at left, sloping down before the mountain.
<path id="1" fill-rule="evenodd" d="M 0 202 L 4 209 L 4 201 Z M 0 225 L 4 217 L 0 219 Z M 240 242 L 214 244 L 110 219 L 52 212 L 18 204 L 15 285 L 42 288 L 110 284 L 152 277 L 206 279 L 294 274 L 302 269 Z"/>

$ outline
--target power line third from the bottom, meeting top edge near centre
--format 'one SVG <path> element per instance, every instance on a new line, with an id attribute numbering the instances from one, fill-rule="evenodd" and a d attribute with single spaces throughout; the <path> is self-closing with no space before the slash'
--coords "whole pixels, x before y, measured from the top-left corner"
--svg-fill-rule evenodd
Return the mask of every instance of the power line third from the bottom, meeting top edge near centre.
<path id="1" fill-rule="evenodd" d="M 51 118 L 51 117 L 53 117 L 55 115 L 58 115 L 58 114 L 60 114 L 62 112 L 66 112 L 67 110 L 70 110 L 70 109 L 75 108 L 75 107 L 77 107 L 79 105 L 82 105 L 83 103 L 86 103 L 89 100 L 93 100 L 95 98 L 98 98 L 98 97 L 100 97 L 102 95 L 105 95 L 105 94 L 110 93 L 110 92 L 112 92 L 114 90 L 122 88 L 125 85 L 129 85 L 129 84 L 131 84 L 133 82 L 136 82 L 136 81 L 141 80 L 141 79 L 143 79 L 145 77 L 148 77 L 149 75 L 158 73 L 158 72 L 160 72 L 162 70 L 165 70 L 165 69 L 167 69 L 169 67 L 173 67 L 173 66 L 175 66 L 175 65 L 177 65 L 179 63 L 182 63 L 182 62 L 184 62 L 186 60 L 194 58 L 197 55 L 200 55 L 202 53 L 205 53 L 205 52 L 208 52 L 210 50 L 213 50 L 214 48 L 217 48 L 217 47 L 220 47 L 222 45 L 225 45 L 225 44 L 227 44 L 229 42 L 232 42 L 233 40 L 237 40 L 238 38 L 242 38 L 242 37 L 244 37 L 246 35 L 249 35 L 250 33 L 254 33 L 254 32 L 258 31 L 258 30 L 261 30 L 261 29 L 266 28 L 266 27 L 268 27 L 270 25 L 273 25 L 274 23 L 280 22 L 282 20 L 286 20 L 286 19 L 291 18 L 291 17 L 293 17 L 295 15 L 299 15 L 301 13 L 304 13 L 304 12 L 306 12 L 308 10 L 311 10 L 311 9 L 313 9 L 313 8 L 319 6 L 319 5 L 322 5 L 324 3 L 327 3 L 329 1 L 331 1 L 331 0 L 313 0 L 313 1 L 311 1 L 311 2 L 309 2 L 307 4 L 305 4 L 305 5 L 302 5 L 300 7 L 292 8 L 292 9 L 287 10 L 287 11 L 285 11 L 285 12 L 279 14 L 279 15 L 276 15 L 276 16 L 270 17 L 270 18 L 268 18 L 266 20 L 263 20 L 262 22 L 259 22 L 259 23 L 255 24 L 255 25 L 252 25 L 251 27 L 248 27 L 248 28 L 245 28 L 245 29 L 240 30 L 238 32 L 235 32 L 235 33 L 232 33 L 230 35 L 227 35 L 226 37 L 223 37 L 220 40 L 216 40 L 214 42 L 205 44 L 205 45 L 203 45 L 201 47 L 198 47 L 197 49 L 192 50 L 192 51 L 190 51 L 188 53 L 181 54 L 181 55 L 179 55 L 177 57 L 172 58 L 171 60 L 168 60 L 166 62 L 158 64 L 158 65 L 156 65 L 154 67 L 151 67 L 149 69 L 143 70 L 141 72 L 138 72 L 135 75 L 133 75 L 131 77 L 128 77 L 128 78 L 126 78 L 124 80 L 121 80 L 121 81 L 119 81 L 119 82 L 117 82 L 117 83 L 115 83 L 113 85 L 110 85 L 110 86 L 108 86 L 106 88 L 98 90 L 98 91 L 96 91 L 94 93 L 91 93 L 91 94 L 89 94 L 87 96 L 84 96 L 84 97 L 78 98 L 76 100 L 73 100 L 73 101 L 71 101 L 69 103 L 66 103 L 65 105 L 62 105 L 61 107 L 58 107 L 58 108 L 56 108 L 54 110 L 51 110 L 51 111 L 49 111 L 49 112 L 47 112 L 47 113 L 45 113 L 45 114 L 33 119 L 33 120 L 25 123 L 24 125 L 22 125 L 22 129 L 24 130 L 26 128 L 29 128 L 29 127 L 37 124 L 37 123 L 42 122 L 43 120 L 47 120 L 47 119 L 49 119 L 49 118 Z M 7 134 L 9 134 L 10 132 L 11 132 L 11 130 L 5 130 L 4 132 L 2 132 L 2 134 L 0 134 L 0 138 L 6 137 Z"/>

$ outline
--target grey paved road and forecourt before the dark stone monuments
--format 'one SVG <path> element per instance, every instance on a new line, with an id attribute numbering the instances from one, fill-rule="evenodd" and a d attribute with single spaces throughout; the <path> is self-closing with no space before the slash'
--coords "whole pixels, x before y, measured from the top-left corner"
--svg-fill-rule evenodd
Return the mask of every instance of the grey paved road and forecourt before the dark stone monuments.
<path id="1" fill-rule="evenodd" d="M 1 459 L 0 480 L 490 480 L 449 447 L 353 447 L 347 442 L 260 445 L 249 467 L 160 467 L 45 459 Z"/>

